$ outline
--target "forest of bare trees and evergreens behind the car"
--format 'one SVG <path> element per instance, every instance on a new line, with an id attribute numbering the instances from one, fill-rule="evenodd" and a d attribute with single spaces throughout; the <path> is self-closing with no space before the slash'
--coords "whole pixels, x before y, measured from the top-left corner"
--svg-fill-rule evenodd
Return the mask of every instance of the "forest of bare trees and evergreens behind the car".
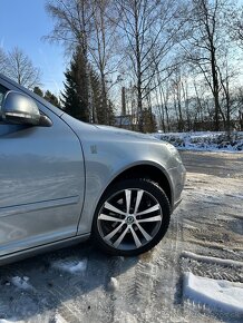
<path id="1" fill-rule="evenodd" d="M 43 41 L 70 58 L 58 105 L 76 118 L 144 133 L 243 130 L 241 1 L 48 0 L 46 12 Z M 0 71 L 3 61 L 0 50 Z"/>

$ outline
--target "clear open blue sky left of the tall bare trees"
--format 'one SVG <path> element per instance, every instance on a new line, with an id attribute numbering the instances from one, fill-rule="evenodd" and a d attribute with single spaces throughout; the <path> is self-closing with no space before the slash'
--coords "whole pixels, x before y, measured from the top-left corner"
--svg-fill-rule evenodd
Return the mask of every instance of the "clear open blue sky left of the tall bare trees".
<path id="1" fill-rule="evenodd" d="M 58 95 L 67 59 L 61 46 L 41 40 L 54 27 L 45 3 L 46 0 L 0 0 L 0 47 L 6 51 L 14 46 L 22 49 L 40 68 L 42 88 Z"/>

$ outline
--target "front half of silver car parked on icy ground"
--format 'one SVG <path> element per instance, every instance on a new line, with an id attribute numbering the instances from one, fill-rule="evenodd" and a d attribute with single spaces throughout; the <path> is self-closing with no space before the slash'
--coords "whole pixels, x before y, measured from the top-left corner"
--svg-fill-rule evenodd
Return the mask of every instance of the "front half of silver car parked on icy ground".
<path id="1" fill-rule="evenodd" d="M 93 237 L 134 256 L 165 235 L 185 168 L 172 145 L 84 124 L 0 75 L 0 264 Z"/>

